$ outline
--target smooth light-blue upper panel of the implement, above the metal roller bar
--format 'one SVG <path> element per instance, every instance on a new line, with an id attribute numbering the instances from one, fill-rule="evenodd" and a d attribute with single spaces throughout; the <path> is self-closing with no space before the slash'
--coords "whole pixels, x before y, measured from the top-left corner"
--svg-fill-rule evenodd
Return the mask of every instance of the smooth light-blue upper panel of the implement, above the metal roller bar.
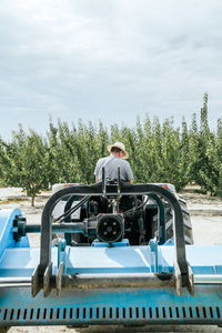
<path id="1" fill-rule="evenodd" d="M 173 246 L 158 249 L 159 266 L 173 272 Z M 39 263 L 40 249 L 7 249 L 0 259 L 1 276 L 30 276 Z M 222 245 L 189 245 L 188 260 L 194 274 L 221 274 Z M 208 253 L 208 255 L 202 255 Z M 201 258 L 200 258 L 201 256 Z M 70 248 L 64 250 L 67 272 L 75 273 L 149 273 L 154 271 L 154 255 L 150 246 Z M 58 248 L 52 248 L 53 272 L 58 269 Z M 29 272 L 29 273 L 28 273 Z"/>

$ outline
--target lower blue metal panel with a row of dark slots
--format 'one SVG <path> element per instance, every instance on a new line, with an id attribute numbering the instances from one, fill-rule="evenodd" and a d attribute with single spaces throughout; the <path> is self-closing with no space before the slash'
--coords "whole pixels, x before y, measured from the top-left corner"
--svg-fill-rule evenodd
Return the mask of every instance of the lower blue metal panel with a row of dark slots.
<path id="1" fill-rule="evenodd" d="M 69 290 L 36 299 L 29 287 L 0 290 L 0 325 L 221 324 L 220 286 L 185 290 Z"/>

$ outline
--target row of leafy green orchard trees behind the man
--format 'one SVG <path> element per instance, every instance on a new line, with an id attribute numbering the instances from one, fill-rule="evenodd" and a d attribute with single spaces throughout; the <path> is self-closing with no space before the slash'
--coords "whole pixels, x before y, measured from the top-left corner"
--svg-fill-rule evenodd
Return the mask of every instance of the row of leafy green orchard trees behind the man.
<path id="1" fill-rule="evenodd" d="M 58 182 L 94 182 L 94 167 L 108 154 L 107 145 L 124 142 L 135 183 L 169 182 L 176 190 L 195 182 L 212 195 L 222 196 L 222 119 L 212 132 L 208 122 L 208 94 L 198 124 L 183 119 L 175 128 L 173 119 L 161 124 L 158 117 L 138 118 L 133 128 L 113 124 L 107 129 L 81 120 L 78 124 L 49 122 L 46 137 L 19 127 L 10 142 L 0 140 L 0 183 L 22 186 L 34 196 Z"/>

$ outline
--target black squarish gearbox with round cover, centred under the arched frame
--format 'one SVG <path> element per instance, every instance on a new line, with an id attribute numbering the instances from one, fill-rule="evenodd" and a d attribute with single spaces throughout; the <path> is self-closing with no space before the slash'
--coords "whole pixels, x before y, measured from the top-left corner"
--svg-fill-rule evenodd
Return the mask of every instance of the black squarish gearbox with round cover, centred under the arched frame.
<path id="1" fill-rule="evenodd" d="M 121 214 L 101 214 L 98 216 L 97 235 L 99 241 L 113 243 L 124 236 L 124 221 Z"/>

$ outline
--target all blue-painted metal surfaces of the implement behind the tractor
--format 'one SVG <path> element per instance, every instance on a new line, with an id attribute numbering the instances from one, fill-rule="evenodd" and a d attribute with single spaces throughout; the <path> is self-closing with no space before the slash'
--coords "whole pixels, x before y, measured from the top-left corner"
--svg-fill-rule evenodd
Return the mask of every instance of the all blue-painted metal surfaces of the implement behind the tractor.
<path id="1" fill-rule="evenodd" d="M 31 276 L 40 261 L 40 249 L 12 236 L 19 210 L 0 211 L 0 276 Z M 24 246 L 27 244 L 27 246 Z M 20 246 L 20 248 L 19 248 Z M 204 253 L 204 255 L 203 255 Z M 186 259 L 194 274 L 222 274 L 222 245 L 188 245 Z M 174 246 L 130 246 L 128 240 L 113 246 L 94 242 L 71 248 L 64 242 L 52 248 L 53 274 L 61 261 L 68 274 L 173 272 Z M 158 259 L 158 260 L 157 260 Z M 194 296 L 186 289 L 178 296 L 169 289 L 64 290 L 31 297 L 30 287 L 0 289 L 0 325 L 80 324 L 221 324 L 222 289 L 195 285 Z"/>

